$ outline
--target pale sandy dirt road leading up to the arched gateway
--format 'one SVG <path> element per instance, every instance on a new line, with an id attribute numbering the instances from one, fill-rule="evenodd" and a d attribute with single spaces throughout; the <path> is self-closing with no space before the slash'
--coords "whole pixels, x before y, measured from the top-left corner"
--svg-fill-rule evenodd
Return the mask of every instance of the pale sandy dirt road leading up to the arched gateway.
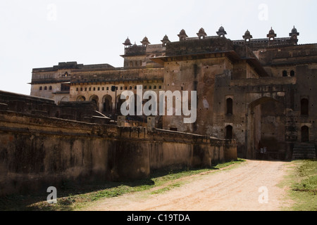
<path id="1" fill-rule="evenodd" d="M 277 184 L 288 162 L 247 160 L 235 169 L 187 178 L 165 193 L 123 195 L 85 210 L 101 211 L 277 211 L 289 204 Z"/>

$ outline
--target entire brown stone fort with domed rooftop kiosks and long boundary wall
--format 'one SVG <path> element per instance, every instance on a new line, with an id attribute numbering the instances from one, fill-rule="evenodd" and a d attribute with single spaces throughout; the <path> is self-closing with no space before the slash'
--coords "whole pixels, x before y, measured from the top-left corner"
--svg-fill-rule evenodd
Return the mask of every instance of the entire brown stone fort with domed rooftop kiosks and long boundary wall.
<path id="1" fill-rule="evenodd" d="M 123 68 L 58 63 L 34 68 L 30 96 L 0 92 L 0 195 L 63 181 L 140 179 L 156 169 L 211 167 L 239 158 L 316 158 L 317 44 L 230 40 L 224 27 L 179 41 L 123 45 Z M 188 91 L 197 120 L 123 116 L 121 94 Z M 196 98 L 196 99 L 191 99 Z M 156 109 L 159 110 L 159 109 Z"/>

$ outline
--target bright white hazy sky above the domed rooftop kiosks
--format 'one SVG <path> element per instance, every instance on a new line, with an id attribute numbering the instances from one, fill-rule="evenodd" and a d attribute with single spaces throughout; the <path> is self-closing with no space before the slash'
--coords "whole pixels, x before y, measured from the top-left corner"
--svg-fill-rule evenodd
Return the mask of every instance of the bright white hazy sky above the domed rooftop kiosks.
<path id="1" fill-rule="evenodd" d="M 127 37 L 161 44 L 221 25 L 232 40 L 247 29 L 265 38 L 271 27 L 289 37 L 295 25 L 299 44 L 317 43 L 316 9 L 316 0 L 0 0 L 0 90 L 30 94 L 32 68 L 59 62 L 122 67 Z"/>

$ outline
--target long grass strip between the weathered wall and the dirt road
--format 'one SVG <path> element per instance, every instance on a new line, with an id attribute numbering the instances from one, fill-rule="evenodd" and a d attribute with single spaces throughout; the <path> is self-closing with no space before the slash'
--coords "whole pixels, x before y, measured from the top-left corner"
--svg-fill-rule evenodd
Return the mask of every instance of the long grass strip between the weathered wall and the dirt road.
<path id="1" fill-rule="evenodd" d="M 18 211 L 70 211 L 80 210 L 104 198 L 114 198 L 127 193 L 147 191 L 155 188 L 150 194 L 159 194 L 177 188 L 183 184 L 180 178 L 214 172 L 231 165 L 240 165 L 245 160 L 225 162 L 207 169 L 170 169 L 151 174 L 148 179 L 125 182 L 94 183 L 89 186 L 69 186 L 58 190 L 56 204 L 46 203 L 48 193 L 43 195 L 10 195 L 0 198 L 0 210 Z"/>

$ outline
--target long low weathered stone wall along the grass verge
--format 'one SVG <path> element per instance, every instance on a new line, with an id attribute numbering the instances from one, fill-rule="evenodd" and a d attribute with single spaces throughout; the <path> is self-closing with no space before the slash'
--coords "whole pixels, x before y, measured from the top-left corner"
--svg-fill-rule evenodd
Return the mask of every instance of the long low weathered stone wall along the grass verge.
<path id="1" fill-rule="evenodd" d="M 0 195 L 65 182 L 141 179 L 155 169 L 210 167 L 237 158 L 234 141 L 8 110 L 0 110 L 0 143 Z"/>

